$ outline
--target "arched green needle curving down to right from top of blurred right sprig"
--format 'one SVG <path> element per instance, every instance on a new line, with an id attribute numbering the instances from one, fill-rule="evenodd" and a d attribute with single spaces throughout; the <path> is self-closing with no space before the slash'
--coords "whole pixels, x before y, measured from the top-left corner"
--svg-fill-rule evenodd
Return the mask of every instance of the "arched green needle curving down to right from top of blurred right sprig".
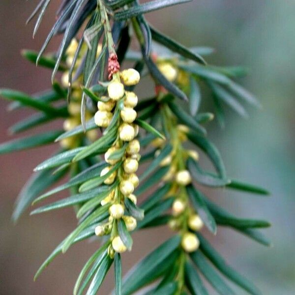
<path id="1" fill-rule="evenodd" d="M 226 179 L 225 167 L 218 149 L 207 138 L 199 136 L 192 131 L 187 133 L 187 137 L 207 154 L 220 177 Z"/>

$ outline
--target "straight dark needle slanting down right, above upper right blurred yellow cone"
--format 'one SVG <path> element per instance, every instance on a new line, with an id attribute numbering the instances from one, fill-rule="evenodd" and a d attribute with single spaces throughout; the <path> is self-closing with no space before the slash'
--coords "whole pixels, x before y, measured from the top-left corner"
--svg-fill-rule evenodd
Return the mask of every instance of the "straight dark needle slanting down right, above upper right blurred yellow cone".
<path id="1" fill-rule="evenodd" d="M 157 31 L 156 29 L 150 27 L 151 36 L 153 40 L 156 42 L 164 45 L 165 47 L 169 48 L 170 50 L 178 53 L 179 55 L 183 56 L 184 58 L 191 59 L 197 61 L 202 64 L 206 64 L 206 61 L 198 54 L 190 51 L 188 48 L 184 47 L 177 41 L 171 39 L 170 37 L 162 34 L 161 32 Z"/>

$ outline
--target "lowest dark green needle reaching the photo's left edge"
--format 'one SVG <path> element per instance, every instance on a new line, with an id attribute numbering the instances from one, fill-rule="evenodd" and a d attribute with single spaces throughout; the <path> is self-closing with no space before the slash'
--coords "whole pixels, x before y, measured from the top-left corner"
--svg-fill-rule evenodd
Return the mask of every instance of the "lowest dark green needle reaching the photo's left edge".
<path id="1" fill-rule="evenodd" d="M 0 144 L 0 154 L 23 150 L 26 148 L 35 148 L 49 143 L 53 143 L 54 140 L 62 133 L 62 131 L 49 131 L 41 134 L 15 139 L 6 143 Z"/>

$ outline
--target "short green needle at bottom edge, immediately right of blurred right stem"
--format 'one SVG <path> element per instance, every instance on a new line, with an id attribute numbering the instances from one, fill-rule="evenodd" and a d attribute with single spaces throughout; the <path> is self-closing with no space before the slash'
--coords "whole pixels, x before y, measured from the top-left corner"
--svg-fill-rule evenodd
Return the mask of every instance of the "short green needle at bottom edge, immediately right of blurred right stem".
<path id="1" fill-rule="evenodd" d="M 192 295 L 208 295 L 198 272 L 188 261 L 185 263 L 185 282 Z"/>

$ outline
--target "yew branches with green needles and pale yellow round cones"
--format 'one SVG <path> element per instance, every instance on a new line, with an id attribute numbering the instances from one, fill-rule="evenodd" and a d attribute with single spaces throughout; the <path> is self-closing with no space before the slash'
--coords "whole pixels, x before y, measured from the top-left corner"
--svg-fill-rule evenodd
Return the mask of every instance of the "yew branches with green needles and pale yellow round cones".
<path id="1" fill-rule="evenodd" d="M 35 134 L 32 130 L 32 135 L 0 145 L 0 154 L 54 142 L 62 146 L 59 152 L 36 166 L 35 173 L 20 192 L 12 216 L 17 221 L 31 204 L 62 190 L 70 191 L 67 198 L 31 211 L 37 214 L 74 207 L 78 219 L 72 233 L 37 270 L 35 279 L 59 253 L 96 235 L 98 239 L 104 236 L 104 242 L 82 268 L 74 295 L 86 290 L 87 295 L 97 294 L 113 263 L 116 295 L 133 294 L 150 283 L 153 285 L 147 295 L 207 295 L 199 272 L 219 294 L 234 294 L 220 273 L 249 294 L 260 294 L 253 283 L 228 266 L 199 233 L 203 223 L 213 235 L 218 234 L 219 226 L 226 226 L 270 245 L 257 230 L 268 227 L 268 222 L 237 217 L 209 201 L 203 191 L 205 186 L 268 195 L 264 188 L 227 176 L 222 156 L 209 140 L 205 126 L 214 116 L 224 126 L 224 105 L 247 117 L 243 103 L 255 107 L 260 104 L 234 82 L 245 75 L 244 68 L 207 65 L 204 56 L 213 52 L 211 48 L 187 48 L 151 27 L 144 18 L 145 13 L 184 2 L 187 0 L 155 0 L 144 4 L 135 0 L 62 1 L 57 20 L 40 52 L 22 52 L 29 61 L 53 70 L 52 89 L 34 95 L 0 89 L 0 96 L 12 101 L 9 111 L 24 107 L 35 111 L 11 126 L 11 133 L 65 119 L 63 131 Z M 49 3 L 50 0 L 40 0 L 29 17 L 28 22 L 38 15 L 33 35 Z M 78 31 L 83 32 L 80 40 L 75 39 Z M 59 50 L 44 55 L 56 34 L 62 35 Z M 129 49 L 132 37 L 138 41 L 140 52 Z M 162 47 L 152 52 L 153 41 L 165 47 L 165 54 Z M 130 91 L 138 81 L 128 83 L 124 81 L 124 72 L 118 72 L 117 62 L 124 60 L 135 61 L 134 68 L 142 78 L 148 75 L 152 78 L 155 93 L 147 93 L 147 97 L 140 97 L 137 103 L 136 95 L 132 96 Z M 63 72 L 61 85 L 54 81 L 57 71 Z M 125 86 L 117 99 L 111 97 L 108 87 L 119 81 Z M 203 87 L 212 94 L 214 114 L 200 112 Z M 136 100 L 132 102 L 134 110 L 131 111 L 128 95 Z M 108 114 L 108 124 L 97 122 L 97 103 L 99 111 Z M 135 111 L 137 116 L 126 121 L 124 111 Z M 127 134 L 122 131 L 124 124 L 129 124 Z M 124 139 L 132 132 L 132 139 L 137 137 L 138 142 Z M 193 150 L 187 148 L 187 142 Z M 140 154 L 136 148 L 138 143 Z M 215 171 L 202 167 L 196 150 L 203 151 Z M 139 177 L 134 174 L 137 166 L 134 168 L 130 163 L 140 167 L 145 163 Z M 66 182 L 51 188 L 65 175 L 69 175 Z M 125 188 L 124 181 L 128 182 Z M 128 189 L 128 193 L 124 194 L 124 189 Z M 133 190 L 136 196 L 148 192 L 148 197 L 137 204 L 136 196 L 130 193 Z M 193 218 L 201 223 L 192 223 Z M 132 232 L 163 225 L 169 225 L 176 233 L 122 279 L 121 256 L 125 250 L 132 251 Z"/>

